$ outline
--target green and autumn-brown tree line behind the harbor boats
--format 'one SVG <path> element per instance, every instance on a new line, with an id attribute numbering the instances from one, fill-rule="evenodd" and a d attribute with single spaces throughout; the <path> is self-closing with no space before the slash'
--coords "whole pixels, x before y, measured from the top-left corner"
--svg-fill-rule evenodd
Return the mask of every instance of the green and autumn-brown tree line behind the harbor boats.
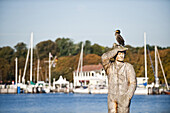
<path id="1" fill-rule="evenodd" d="M 40 59 L 40 80 L 48 81 L 48 61 L 49 52 L 53 56 L 57 56 L 58 61 L 54 62 L 52 67 L 52 78 L 58 79 L 60 75 L 65 77 L 70 82 L 73 81 L 73 71 L 77 69 L 81 45 L 83 42 L 74 43 L 69 38 L 57 38 L 55 41 L 47 40 L 36 44 L 33 50 L 33 81 L 36 82 L 37 76 L 37 60 Z M 129 50 L 126 53 L 125 61 L 133 64 L 136 75 L 144 76 L 144 49 L 143 47 L 132 47 L 126 45 Z M 150 55 L 154 64 L 154 46 L 147 45 L 150 50 Z M 84 42 L 84 59 L 83 64 L 99 64 L 101 63 L 101 55 L 112 48 L 104 47 L 99 44 L 91 44 L 89 40 Z M 170 48 L 158 47 L 165 74 L 170 83 Z M 18 58 L 19 75 L 23 75 L 25 60 L 27 56 L 27 45 L 19 42 L 11 48 L 9 46 L 0 48 L 0 83 L 11 83 L 15 80 L 15 58 Z M 151 68 L 151 63 L 148 59 L 148 77 L 149 83 L 154 81 L 154 75 Z M 30 62 L 30 61 L 29 61 Z M 26 80 L 29 80 L 29 62 L 26 71 Z M 164 83 L 162 72 L 159 66 L 159 79 Z"/>

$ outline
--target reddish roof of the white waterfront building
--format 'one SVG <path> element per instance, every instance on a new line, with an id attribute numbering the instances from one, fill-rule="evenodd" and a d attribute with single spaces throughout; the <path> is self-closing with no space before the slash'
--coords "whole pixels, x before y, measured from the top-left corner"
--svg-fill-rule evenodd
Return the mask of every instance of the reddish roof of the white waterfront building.
<path id="1" fill-rule="evenodd" d="M 102 69 L 103 69 L 103 66 L 101 64 L 85 65 L 85 66 L 82 67 L 82 71 L 98 71 L 98 70 L 102 70 Z M 75 71 L 77 71 L 77 70 L 75 70 Z M 80 72 L 80 69 L 79 69 L 79 72 Z"/>

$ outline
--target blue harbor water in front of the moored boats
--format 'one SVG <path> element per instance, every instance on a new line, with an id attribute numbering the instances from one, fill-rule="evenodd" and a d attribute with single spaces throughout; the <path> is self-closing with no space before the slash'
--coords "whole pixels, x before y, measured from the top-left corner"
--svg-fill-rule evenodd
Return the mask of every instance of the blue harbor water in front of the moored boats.
<path id="1" fill-rule="evenodd" d="M 107 95 L 0 94 L 0 113 L 107 113 Z M 170 113 L 170 96 L 135 95 L 130 113 Z"/>

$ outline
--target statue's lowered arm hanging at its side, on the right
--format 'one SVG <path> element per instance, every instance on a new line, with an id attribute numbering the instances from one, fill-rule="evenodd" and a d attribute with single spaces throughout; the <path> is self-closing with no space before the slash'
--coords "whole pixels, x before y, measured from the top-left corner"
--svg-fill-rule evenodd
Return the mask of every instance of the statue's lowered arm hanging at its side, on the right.
<path id="1" fill-rule="evenodd" d="M 133 66 L 130 64 L 128 65 L 128 82 L 129 82 L 129 89 L 127 92 L 127 96 L 131 99 L 135 90 L 136 90 L 136 73 Z"/>

